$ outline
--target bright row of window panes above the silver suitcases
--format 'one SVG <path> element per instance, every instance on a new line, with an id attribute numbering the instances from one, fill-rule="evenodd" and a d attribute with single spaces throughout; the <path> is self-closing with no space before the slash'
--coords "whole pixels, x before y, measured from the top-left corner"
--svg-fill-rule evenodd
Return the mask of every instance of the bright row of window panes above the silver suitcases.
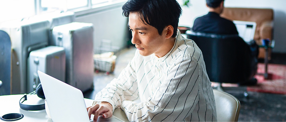
<path id="1" fill-rule="evenodd" d="M 0 24 L 4 21 L 27 18 L 53 11 L 69 11 L 92 5 L 112 5 L 127 0 L 0 0 Z M 85 9 L 85 8 L 84 8 Z"/>

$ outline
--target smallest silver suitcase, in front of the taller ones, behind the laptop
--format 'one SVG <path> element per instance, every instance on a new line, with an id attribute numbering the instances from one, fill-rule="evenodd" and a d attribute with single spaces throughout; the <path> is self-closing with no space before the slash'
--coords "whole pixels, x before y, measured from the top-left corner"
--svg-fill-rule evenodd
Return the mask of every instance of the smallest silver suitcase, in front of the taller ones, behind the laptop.
<path id="1" fill-rule="evenodd" d="M 40 83 L 38 70 L 65 82 L 65 49 L 48 46 L 31 51 L 27 59 L 27 93 L 36 90 Z"/>

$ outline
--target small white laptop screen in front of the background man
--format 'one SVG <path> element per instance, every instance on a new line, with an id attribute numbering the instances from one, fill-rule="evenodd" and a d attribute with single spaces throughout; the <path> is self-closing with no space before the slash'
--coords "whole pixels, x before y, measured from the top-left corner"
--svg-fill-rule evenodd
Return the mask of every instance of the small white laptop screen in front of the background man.
<path id="1" fill-rule="evenodd" d="M 254 38 L 256 22 L 233 20 L 238 34 L 245 42 L 250 42 Z"/>

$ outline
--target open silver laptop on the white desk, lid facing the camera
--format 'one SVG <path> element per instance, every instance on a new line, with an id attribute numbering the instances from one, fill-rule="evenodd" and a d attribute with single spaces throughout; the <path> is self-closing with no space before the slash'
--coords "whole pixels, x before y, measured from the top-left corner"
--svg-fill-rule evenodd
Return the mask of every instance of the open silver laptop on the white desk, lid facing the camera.
<path id="1" fill-rule="evenodd" d="M 38 74 L 53 121 L 91 121 L 81 90 L 41 71 Z M 108 119 L 99 116 L 98 121 L 122 120 L 115 116 Z"/>

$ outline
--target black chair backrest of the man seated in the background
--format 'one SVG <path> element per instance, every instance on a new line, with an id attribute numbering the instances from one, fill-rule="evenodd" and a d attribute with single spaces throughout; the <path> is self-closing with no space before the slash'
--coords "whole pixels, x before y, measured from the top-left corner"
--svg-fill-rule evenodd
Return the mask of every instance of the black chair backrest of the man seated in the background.
<path id="1" fill-rule="evenodd" d="M 187 33 L 201 49 L 210 81 L 239 83 L 251 79 L 257 58 L 238 35 Z"/>

